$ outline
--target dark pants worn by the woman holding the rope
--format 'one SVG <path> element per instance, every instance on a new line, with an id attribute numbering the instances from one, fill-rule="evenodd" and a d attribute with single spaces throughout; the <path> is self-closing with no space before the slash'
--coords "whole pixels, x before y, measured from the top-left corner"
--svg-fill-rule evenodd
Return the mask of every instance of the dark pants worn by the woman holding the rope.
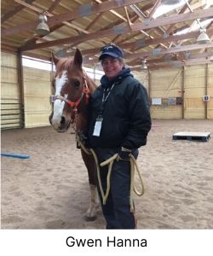
<path id="1" fill-rule="evenodd" d="M 119 148 L 95 148 L 99 164 L 118 153 Z M 132 151 L 135 159 L 138 149 Z M 107 190 L 108 166 L 100 167 L 101 184 L 104 193 Z M 97 186 L 101 198 L 99 185 Z M 112 166 L 110 178 L 110 192 L 106 205 L 103 205 L 101 198 L 103 215 L 107 222 L 107 229 L 135 229 L 134 212 L 130 212 L 130 161 L 115 160 Z"/>

